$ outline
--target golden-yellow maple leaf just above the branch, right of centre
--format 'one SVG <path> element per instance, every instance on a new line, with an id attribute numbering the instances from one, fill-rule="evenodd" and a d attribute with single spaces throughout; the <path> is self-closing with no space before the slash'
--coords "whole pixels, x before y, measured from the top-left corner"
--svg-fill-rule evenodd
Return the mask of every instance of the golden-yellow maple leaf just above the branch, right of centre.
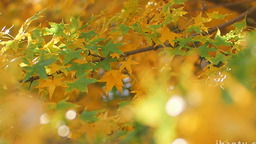
<path id="1" fill-rule="evenodd" d="M 170 42 L 171 45 L 174 45 L 174 42 L 172 42 L 176 37 L 181 37 L 182 34 L 176 34 L 170 31 L 170 29 L 165 26 L 163 27 L 162 31 L 160 32 L 161 37 L 159 38 L 159 40 L 161 42 L 165 42 L 166 40 L 168 40 Z M 155 46 L 159 45 L 160 43 L 157 42 L 155 44 Z"/>

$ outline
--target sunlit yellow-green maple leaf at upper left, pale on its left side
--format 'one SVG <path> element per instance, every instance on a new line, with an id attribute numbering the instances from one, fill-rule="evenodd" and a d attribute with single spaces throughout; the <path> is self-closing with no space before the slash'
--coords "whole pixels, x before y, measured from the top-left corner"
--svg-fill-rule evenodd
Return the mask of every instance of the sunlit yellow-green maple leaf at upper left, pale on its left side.
<path id="1" fill-rule="evenodd" d="M 51 28 L 45 28 L 45 31 L 54 34 L 54 38 L 63 36 L 68 39 L 68 36 L 64 33 L 64 22 L 62 21 L 60 24 L 49 22 Z"/>

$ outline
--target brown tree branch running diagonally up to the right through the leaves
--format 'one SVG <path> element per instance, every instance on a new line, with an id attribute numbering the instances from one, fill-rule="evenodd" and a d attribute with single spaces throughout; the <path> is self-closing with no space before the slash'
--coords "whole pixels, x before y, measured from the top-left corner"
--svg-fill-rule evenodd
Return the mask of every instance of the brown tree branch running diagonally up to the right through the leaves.
<path id="1" fill-rule="evenodd" d="M 233 24 L 235 22 L 238 22 L 239 20 L 244 19 L 246 15 L 252 14 L 252 12 L 255 12 L 255 11 L 256 11 L 256 6 L 252 7 L 251 9 L 249 9 L 249 10 L 247 10 L 245 12 L 243 12 L 241 15 L 237 16 L 234 19 L 229 20 L 226 23 L 222 23 L 222 24 L 219 24 L 218 26 L 210 28 L 210 30 L 208 30 L 208 34 L 212 34 L 215 31 L 217 31 L 218 29 L 223 29 L 223 28 L 225 28 L 225 27 L 227 27 L 227 26 L 229 26 L 229 25 L 231 25 L 231 24 Z M 202 32 L 202 33 L 206 34 L 205 31 Z M 193 36 L 196 36 L 196 35 L 199 35 L 199 34 L 193 33 L 193 34 L 189 35 L 188 37 L 193 37 Z M 164 43 L 164 44 L 167 45 L 168 43 Z M 155 46 L 155 48 L 154 48 L 154 46 L 148 46 L 146 48 L 136 49 L 136 50 L 132 50 L 132 51 L 129 51 L 129 52 L 124 52 L 124 54 L 123 55 L 121 54 L 120 57 L 127 57 L 127 56 L 130 56 L 132 54 L 143 53 L 143 52 L 147 52 L 147 51 L 150 51 L 150 50 L 157 50 L 159 48 L 163 48 L 163 46 L 162 45 L 158 45 L 158 46 Z M 100 61 L 102 61 L 104 59 L 106 59 L 106 58 L 103 57 L 101 59 L 93 60 L 92 62 L 100 62 Z M 59 73 L 63 73 L 63 72 L 57 71 L 57 74 L 59 74 Z M 52 76 L 52 75 L 48 75 L 48 76 Z M 26 82 L 33 82 L 34 80 L 38 80 L 38 79 L 39 79 L 39 76 L 32 76 L 28 80 L 26 80 Z M 19 80 L 19 82 L 22 83 L 23 80 Z"/>

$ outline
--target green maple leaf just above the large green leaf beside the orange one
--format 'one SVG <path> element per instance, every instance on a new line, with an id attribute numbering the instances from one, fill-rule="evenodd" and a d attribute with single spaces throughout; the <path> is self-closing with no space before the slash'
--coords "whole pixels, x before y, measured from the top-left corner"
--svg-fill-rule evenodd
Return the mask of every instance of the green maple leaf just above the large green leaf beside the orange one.
<path id="1" fill-rule="evenodd" d="M 69 70 L 71 71 L 76 71 L 77 77 L 82 76 L 85 73 L 85 70 L 89 71 L 90 69 L 93 69 L 93 66 L 91 66 L 90 64 L 78 64 L 76 62 L 72 62 L 72 66 L 69 68 Z"/>

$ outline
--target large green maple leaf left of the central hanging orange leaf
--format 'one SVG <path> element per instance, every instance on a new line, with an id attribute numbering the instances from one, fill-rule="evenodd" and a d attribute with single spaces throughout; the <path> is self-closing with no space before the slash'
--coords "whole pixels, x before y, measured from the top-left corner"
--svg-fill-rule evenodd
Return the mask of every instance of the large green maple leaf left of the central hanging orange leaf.
<path id="1" fill-rule="evenodd" d="M 88 92 L 87 85 L 90 83 L 95 83 L 96 79 L 88 79 L 85 76 L 89 74 L 90 71 L 86 72 L 84 75 L 80 76 L 75 82 L 67 83 L 67 88 L 65 90 L 65 94 L 68 92 L 74 90 L 76 88 L 79 91 L 82 92 Z"/>

